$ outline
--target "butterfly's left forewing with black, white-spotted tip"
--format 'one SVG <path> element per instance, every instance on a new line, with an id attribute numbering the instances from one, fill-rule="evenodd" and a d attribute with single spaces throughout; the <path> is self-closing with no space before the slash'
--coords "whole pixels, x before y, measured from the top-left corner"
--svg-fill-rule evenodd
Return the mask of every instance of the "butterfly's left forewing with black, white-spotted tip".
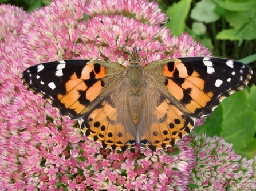
<path id="1" fill-rule="evenodd" d="M 123 78 L 124 66 L 99 60 L 62 60 L 27 68 L 22 82 L 62 115 L 78 119 Z"/>

